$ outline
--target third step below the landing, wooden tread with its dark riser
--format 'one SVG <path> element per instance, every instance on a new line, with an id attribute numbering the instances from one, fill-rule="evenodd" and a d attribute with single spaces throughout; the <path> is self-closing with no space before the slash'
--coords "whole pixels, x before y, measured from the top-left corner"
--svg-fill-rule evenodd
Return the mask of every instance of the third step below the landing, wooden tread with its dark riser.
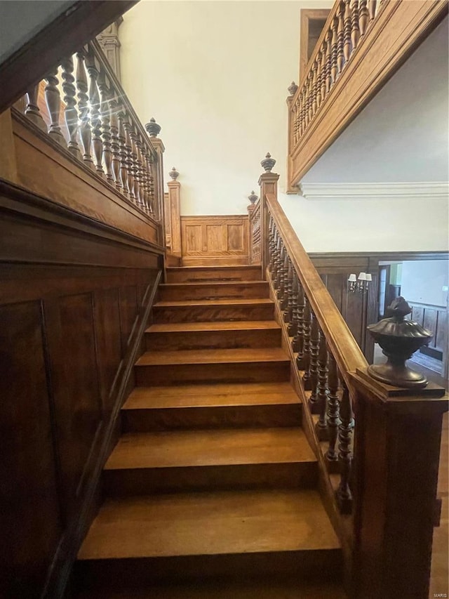
<path id="1" fill-rule="evenodd" d="M 271 320 L 169 322 L 145 331 L 148 350 L 270 348 L 281 344 L 281 327 Z"/>

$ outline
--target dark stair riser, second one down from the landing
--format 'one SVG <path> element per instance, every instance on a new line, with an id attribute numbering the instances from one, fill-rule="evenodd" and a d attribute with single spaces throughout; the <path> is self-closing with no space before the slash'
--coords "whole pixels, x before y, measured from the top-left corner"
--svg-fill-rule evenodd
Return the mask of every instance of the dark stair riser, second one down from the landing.
<path id="1" fill-rule="evenodd" d="M 268 283 L 264 281 L 253 284 L 228 283 L 226 285 L 197 284 L 175 287 L 159 287 L 159 301 L 184 301 L 184 300 L 206 300 L 206 299 L 244 299 L 244 298 L 267 298 L 269 297 Z"/>

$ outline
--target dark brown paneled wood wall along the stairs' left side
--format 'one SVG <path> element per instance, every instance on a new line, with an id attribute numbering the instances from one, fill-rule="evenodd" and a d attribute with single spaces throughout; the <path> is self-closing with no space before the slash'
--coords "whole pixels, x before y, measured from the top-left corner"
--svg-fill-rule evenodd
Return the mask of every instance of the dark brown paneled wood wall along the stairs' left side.
<path id="1" fill-rule="evenodd" d="M 53 599 L 95 513 L 161 258 L 7 184 L 0 211 L 0 596 Z"/>

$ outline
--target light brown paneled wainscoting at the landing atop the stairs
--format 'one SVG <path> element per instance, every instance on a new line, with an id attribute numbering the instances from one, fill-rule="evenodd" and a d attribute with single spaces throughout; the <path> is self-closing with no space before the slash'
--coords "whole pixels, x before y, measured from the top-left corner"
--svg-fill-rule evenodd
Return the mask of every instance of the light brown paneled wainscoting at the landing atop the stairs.
<path id="1" fill-rule="evenodd" d="M 248 215 L 181 216 L 182 265 L 248 264 Z"/>

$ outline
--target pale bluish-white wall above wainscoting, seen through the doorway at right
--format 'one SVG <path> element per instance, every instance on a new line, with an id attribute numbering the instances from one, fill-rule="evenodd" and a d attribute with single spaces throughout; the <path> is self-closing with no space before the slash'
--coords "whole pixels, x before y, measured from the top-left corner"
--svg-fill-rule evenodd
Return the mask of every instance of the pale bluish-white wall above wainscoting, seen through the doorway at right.
<path id="1" fill-rule="evenodd" d="M 407 301 L 448 305 L 449 262 L 423 260 L 403 262 L 401 296 Z M 446 291 L 443 291 L 443 287 Z"/>

